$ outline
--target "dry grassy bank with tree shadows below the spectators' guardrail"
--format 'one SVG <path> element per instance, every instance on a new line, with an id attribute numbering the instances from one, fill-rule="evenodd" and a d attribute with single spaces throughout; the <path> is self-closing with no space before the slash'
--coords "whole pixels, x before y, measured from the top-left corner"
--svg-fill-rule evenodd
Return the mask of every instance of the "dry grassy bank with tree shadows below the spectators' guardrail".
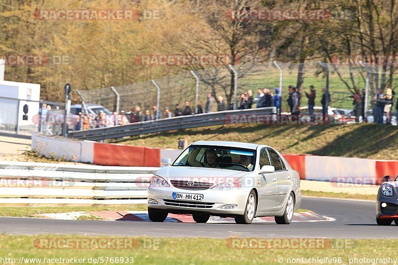
<path id="1" fill-rule="evenodd" d="M 351 124 L 330 126 L 244 125 L 203 127 L 185 131 L 133 136 L 112 142 L 147 147 L 177 148 L 178 138 L 263 143 L 282 153 L 398 159 L 398 131 L 394 126 Z"/>

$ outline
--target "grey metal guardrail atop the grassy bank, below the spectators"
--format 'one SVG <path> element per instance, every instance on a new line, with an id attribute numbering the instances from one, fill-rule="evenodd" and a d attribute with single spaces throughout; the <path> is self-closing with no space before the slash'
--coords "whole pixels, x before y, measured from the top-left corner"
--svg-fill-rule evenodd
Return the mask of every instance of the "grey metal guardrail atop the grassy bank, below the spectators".
<path id="1" fill-rule="evenodd" d="M 268 107 L 195 114 L 189 116 L 160 119 L 156 121 L 133 123 L 129 125 L 70 132 L 69 136 L 85 140 L 103 140 L 145 133 L 160 133 L 203 126 L 231 124 L 233 122 L 232 120 L 234 116 L 271 115 L 276 114 L 276 112 L 276 107 Z"/>

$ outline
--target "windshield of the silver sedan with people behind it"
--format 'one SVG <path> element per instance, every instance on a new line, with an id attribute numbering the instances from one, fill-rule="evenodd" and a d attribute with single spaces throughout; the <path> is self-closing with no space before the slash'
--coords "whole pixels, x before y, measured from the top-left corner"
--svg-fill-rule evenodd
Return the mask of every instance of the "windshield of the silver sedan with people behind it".
<path id="1" fill-rule="evenodd" d="M 191 145 L 173 166 L 225 168 L 253 171 L 256 150 L 214 145 Z"/>

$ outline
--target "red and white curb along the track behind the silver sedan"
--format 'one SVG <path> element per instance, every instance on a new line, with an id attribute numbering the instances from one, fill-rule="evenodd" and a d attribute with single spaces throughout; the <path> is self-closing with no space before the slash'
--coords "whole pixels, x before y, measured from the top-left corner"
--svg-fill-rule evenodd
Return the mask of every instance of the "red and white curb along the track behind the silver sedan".
<path id="1" fill-rule="evenodd" d="M 147 211 L 89 211 L 89 212 L 64 212 L 64 213 L 45 213 L 36 214 L 37 217 L 59 220 L 77 220 L 77 219 L 94 219 L 106 221 L 135 221 L 150 222 Z M 319 215 L 313 211 L 296 212 L 292 222 L 330 222 L 336 219 L 328 216 Z M 190 214 L 172 214 L 169 213 L 165 222 L 182 222 L 195 223 Z M 256 217 L 253 222 L 275 222 L 274 217 Z M 218 216 L 210 216 L 207 223 L 235 223 L 234 218 L 221 218 Z"/>

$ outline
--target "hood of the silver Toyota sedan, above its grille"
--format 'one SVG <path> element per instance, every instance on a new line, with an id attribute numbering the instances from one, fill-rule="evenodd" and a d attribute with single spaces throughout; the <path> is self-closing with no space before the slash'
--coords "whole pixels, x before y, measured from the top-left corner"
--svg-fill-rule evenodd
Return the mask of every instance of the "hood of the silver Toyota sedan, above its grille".
<path id="1" fill-rule="evenodd" d="M 171 180 L 206 182 L 219 184 L 222 182 L 236 181 L 239 178 L 250 175 L 252 172 L 244 172 L 220 168 L 201 168 L 189 166 L 167 166 L 159 169 L 156 175 Z"/>

